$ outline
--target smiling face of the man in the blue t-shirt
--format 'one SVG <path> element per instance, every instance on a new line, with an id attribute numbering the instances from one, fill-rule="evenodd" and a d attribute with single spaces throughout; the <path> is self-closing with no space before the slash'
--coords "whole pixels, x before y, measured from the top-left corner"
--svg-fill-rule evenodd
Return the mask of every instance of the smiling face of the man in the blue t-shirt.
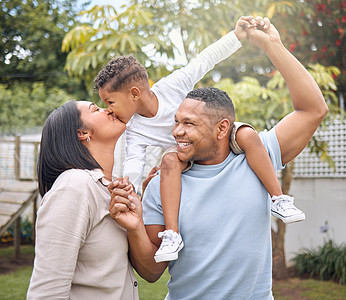
<path id="1" fill-rule="evenodd" d="M 186 98 L 175 114 L 173 136 L 177 142 L 178 156 L 182 161 L 213 165 L 218 161 L 217 127 L 212 109 L 205 102 Z"/>

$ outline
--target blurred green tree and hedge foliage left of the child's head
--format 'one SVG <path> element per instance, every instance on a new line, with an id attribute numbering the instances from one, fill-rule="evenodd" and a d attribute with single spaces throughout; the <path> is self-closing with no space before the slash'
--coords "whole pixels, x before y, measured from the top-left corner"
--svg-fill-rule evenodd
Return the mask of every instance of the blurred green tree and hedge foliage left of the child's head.
<path id="1" fill-rule="evenodd" d="M 81 80 L 64 71 L 64 35 L 75 24 L 77 0 L 0 2 L 0 130 L 43 125 L 66 98 L 85 98 Z M 67 93 L 71 96 L 67 97 Z"/>

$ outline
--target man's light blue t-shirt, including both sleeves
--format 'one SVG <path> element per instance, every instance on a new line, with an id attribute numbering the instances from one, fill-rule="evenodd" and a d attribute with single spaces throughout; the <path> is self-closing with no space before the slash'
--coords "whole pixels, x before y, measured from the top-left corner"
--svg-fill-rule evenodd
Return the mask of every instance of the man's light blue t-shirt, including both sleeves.
<path id="1" fill-rule="evenodd" d="M 272 129 L 260 137 L 282 168 Z M 159 176 L 143 199 L 146 225 L 164 225 Z M 244 154 L 182 174 L 179 230 L 184 248 L 169 263 L 166 299 L 273 299 L 270 197 Z"/>

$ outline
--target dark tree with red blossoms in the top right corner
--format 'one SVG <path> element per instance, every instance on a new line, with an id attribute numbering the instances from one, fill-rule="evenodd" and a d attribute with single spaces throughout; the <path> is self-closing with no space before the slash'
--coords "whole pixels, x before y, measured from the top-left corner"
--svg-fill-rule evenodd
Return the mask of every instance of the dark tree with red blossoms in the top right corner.
<path id="1" fill-rule="evenodd" d="M 305 0 L 302 6 L 299 18 L 287 15 L 275 18 L 275 24 L 286 29 L 285 40 L 300 61 L 337 66 L 341 70 L 334 79 L 339 93 L 345 96 L 346 1 Z"/>

